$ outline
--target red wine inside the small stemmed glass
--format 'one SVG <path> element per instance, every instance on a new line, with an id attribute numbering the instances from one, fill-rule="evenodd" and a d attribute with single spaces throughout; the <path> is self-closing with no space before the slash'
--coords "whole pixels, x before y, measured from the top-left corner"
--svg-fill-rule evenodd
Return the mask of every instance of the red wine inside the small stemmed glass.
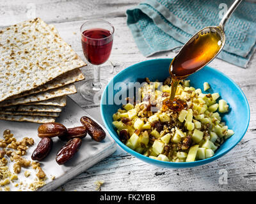
<path id="1" fill-rule="evenodd" d="M 103 64 L 108 60 L 113 45 L 111 34 L 110 31 L 102 28 L 83 31 L 83 52 L 90 63 Z"/>

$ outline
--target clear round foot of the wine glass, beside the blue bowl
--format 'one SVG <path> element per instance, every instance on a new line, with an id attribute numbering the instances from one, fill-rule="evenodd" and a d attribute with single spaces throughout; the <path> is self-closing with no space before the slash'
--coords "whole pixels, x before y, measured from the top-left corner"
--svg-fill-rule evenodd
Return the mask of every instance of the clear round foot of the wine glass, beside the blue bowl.
<path id="1" fill-rule="evenodd" d="M 79 92 L 84 99 L 93 102 L 95 105 L 100 104 L 101 95 L 108 84 L 106 80 L 100 80 L 100 83 L 97 83 L 97 86 L 93 85 L 94 80 L 87 80 L 79 88 Z"/>

